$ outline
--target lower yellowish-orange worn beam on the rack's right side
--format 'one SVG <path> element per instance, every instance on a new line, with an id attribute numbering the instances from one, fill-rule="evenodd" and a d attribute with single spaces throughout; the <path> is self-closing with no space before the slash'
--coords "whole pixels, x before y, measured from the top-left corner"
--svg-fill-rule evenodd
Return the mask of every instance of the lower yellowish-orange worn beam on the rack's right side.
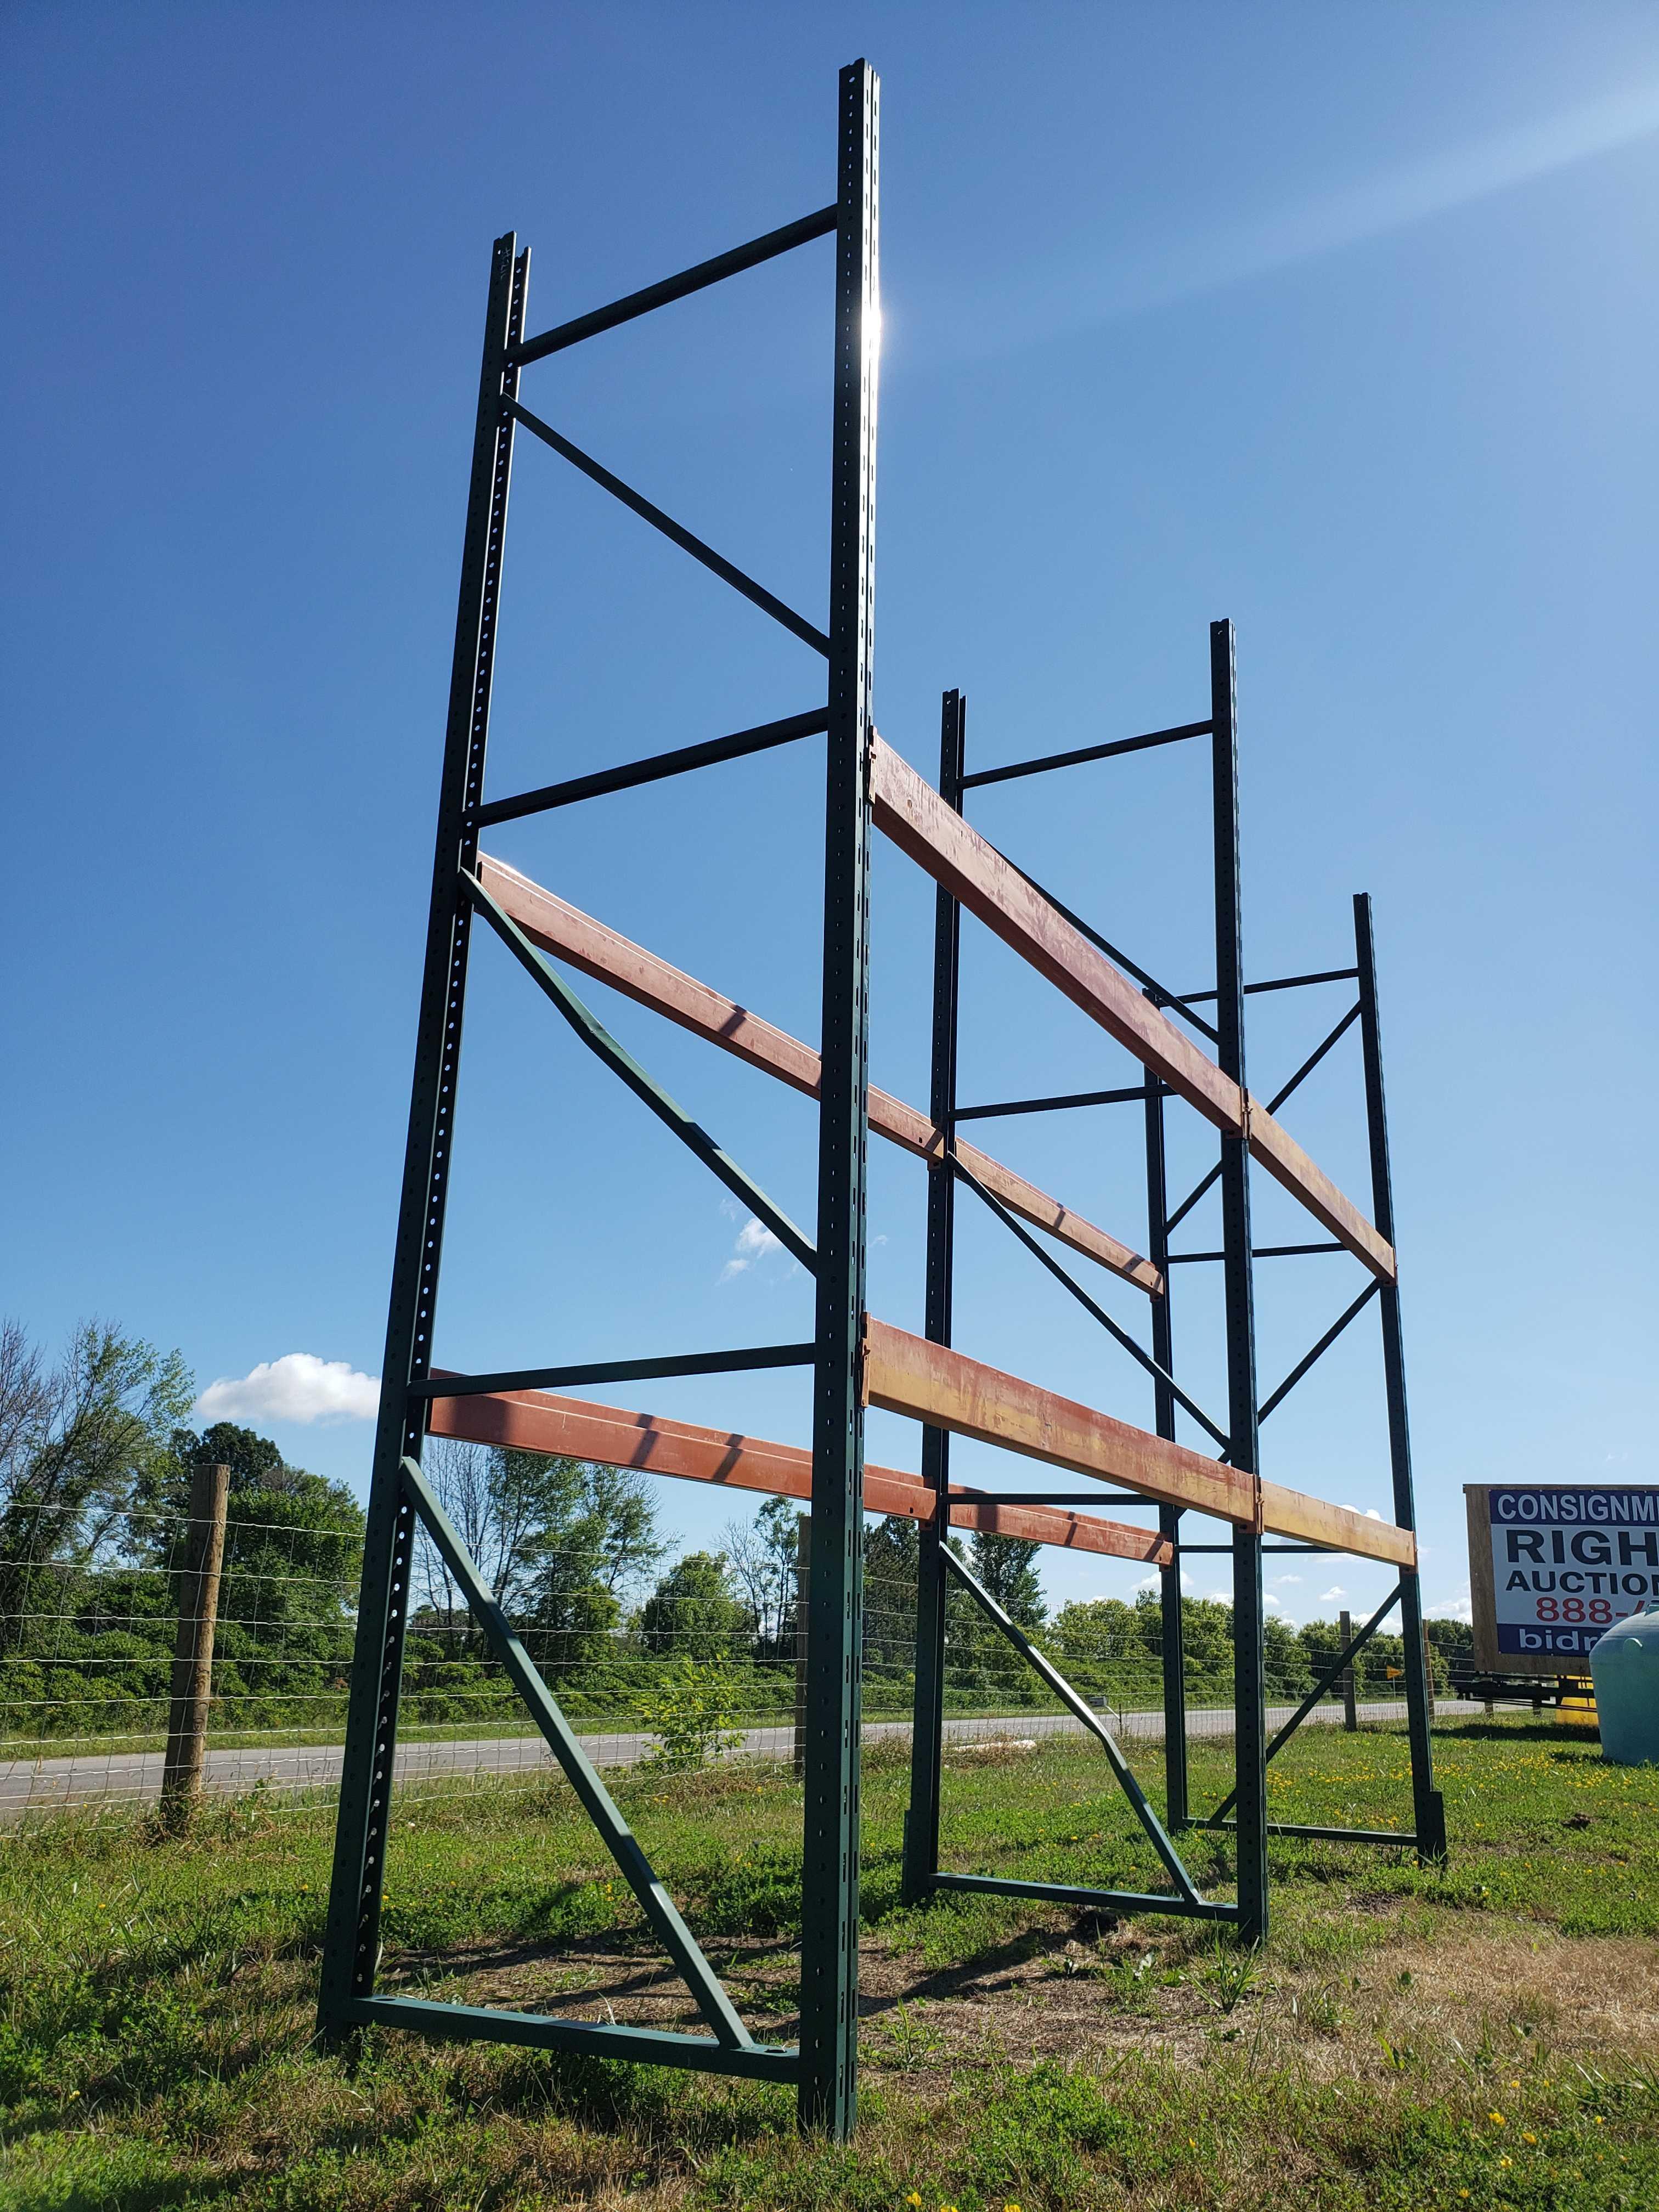
<path id="1" fill-rule="evenodd" d="M 865 1405 L 907 1413 L 953 1436 L 1002 1444 L 1079 1475 L 1121 1482 L 1144 1498 L 1192 1506 L 1241 1528 L 1270 1528 L 1274 1535 L 1329 1544 L 1332 1551 L 1387 1559 L 1391 1566 L 1416 1566 L 1418 1559 L 1409 1528 L 1323 1498 L 1305 1498 L 1276 1482 L 1256 1482 L 1186 1444 L 1150 1436 L 1075 1398 L 1040 1389 L 1000 1367 L 982 1367 L 947 1345 L 929 1345 L 909 1329 L 874 1318 L 865 1318 Z"/>

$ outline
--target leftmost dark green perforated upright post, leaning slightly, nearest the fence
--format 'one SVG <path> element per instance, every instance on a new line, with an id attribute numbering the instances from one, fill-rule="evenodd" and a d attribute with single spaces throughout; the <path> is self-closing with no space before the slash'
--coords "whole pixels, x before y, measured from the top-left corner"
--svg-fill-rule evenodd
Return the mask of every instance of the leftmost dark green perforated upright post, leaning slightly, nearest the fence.
<path id="1" fill-rule="evenodd" d="M 345 2033 L 349 2002 L 374 1989 L 380 1944 L 387 1809 L 416 1528 L 400 1467 L 405 1455 L 420 1460 L 427 1427 L 425 1400 L 414 1398 L 409 1385 L 427 1380 L 431 1363 L 471 922 L 471 909 L 460 896 L 460 869 L 476 867 L 478 860 L 478 832 L 469 827 L 469 816 L 484 790 L 502 538 L 513 469 L 513 416 L 507 403 L 518 396 L 518 369 L 509 361 L 509 349 L 524 336 L 529 272 L 529 250 L 520 254 L 511 232 L 495 239 L 460 560 L 456 657 L 449 675 L 409 1139 L 403 1157 L 398 1243 L 380 1365 L 380 1422 L 374 1433 L 345 1767 L 323 1947 L 319 2028 L 327 2042 L 338 2042 Z"/>

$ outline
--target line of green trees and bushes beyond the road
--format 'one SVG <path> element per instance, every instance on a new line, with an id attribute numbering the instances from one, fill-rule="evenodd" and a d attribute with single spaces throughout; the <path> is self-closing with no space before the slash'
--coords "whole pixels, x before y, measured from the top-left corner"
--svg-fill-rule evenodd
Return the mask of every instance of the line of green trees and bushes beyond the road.
<path id="1" fill-rule="evenodd" d="M 215 1659 L 215 1728 L 334 1732 L 345 1712 L 363 1509 L 349 1489 L 283 1460 L 252 1429 L 190 1427 L 195 1380 L 108 1323 L 82 1325 L 49 1363 L 0 1327 L 0 1725 L 7 1736 L 148 1734 L 166 1721 L 175 1575 L 190 1478 L 230 1469 Z M 582 1460 L 431 1440 L 427 1473 L 467 1548 L 575 1717 L 661 1725 L 664 1683 L 728 1721 L 779 1719 L 801 1641 L 794 1502 L 768 1498 L 714 1551 L 672 1555 L 646 1478 Z M 953 1540 L 956 1542 L 956 1540 Z M 909 1705 L 918 1528 L 865 1533 L 865 1701 Z M 1086 1694 L 1157 1701 L 1157 1597 L 1095 1599 L 1053 1617 L 1037 1546 L 971 1535 L 962 1553 L 1002 1608 Z M 520 1725 L 442 1557 L 416 1553 L 405 1641 L 405 1717 Z M 1232 1617 L 1183 1599 L 1188 1692 L 1225 1701 Z M 1438 1666 L 1469 1630 L 1436 1626 Z M 1336 1628 L 1267 1621 L 1267 1681 L 1298 1697 L 1336 1650 Z M 1398 1679 L 1398 1637 L 1367 1648 L 1360 1690 Z M 668 1699 L 668 1703 L 666 1703 Z M 962 1595 L 947 1624 L 947 1703 L 1013 1710 L 1046 1692 Z"/>

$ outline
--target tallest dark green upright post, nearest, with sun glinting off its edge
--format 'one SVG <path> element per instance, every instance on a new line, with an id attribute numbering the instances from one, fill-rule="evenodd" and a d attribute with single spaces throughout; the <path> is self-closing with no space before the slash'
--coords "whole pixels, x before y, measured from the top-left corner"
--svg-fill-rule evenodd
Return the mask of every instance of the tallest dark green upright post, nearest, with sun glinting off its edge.
<path id="1" fill-rule="evenodd" d="M 830 515 L 830 737 L 823 858 L 818 1303 L 812 1617 L 801 1865 L 801 2124 L 858 2115 L 858 1719 L 863 1644 L 863 1318 L 869 1091 L 869 750 L 880 365 L 876 73 L 841 73 Z"/>

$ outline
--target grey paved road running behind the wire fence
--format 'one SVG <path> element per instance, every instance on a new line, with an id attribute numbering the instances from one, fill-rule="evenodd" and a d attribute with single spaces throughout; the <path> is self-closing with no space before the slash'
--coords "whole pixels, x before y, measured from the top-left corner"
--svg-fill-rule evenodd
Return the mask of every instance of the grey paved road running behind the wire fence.
<path id="1" fill-rule="evenodd" d="M 1398 1703 L 1360 1705 L 1360 1719 L 1389 1721 L 1400 1714 Z M 1267 1725 L 1279 1728 L 1294 1712 L 1292 1705 L 1270 1705 Z M 1340 1705 L 1318 1705 L 1307 1717 L 1312 1723 L 1340 1721 Z M 1115 1712 L 1110 1725 L 1119 1736 L 1161 1739 L 1161 1712 Z M 1232 1734 L 1232 1708 L 1194 1710 L 1188 1714 L 1194 1736 Z M 865 1743 L 883 1743 L 909 1736 L 909 1721 L 867 1721 Z M 1062 1712 L 1015 1712 L 1006 1717 L 975 1717 L 947 1721 L 947 1739 L 973 1743 L 995 1736 L 1035 1741 L 1037 1736 L 1075 1734 L 1079 1723 Z M 630 1767 L 650 1752 L 657 1739 L 646 1732 L 617 1732 L 584 1736 L 584 1750 L 597 1767 Z M 750 1728 L 743 1732 L 741 1750 L 750 1754 L 787 1756 L 792 1745 L 790 1725 Z M 208 1752 L 206 1787 L 215 1796 L 241 1796 L 257 1785 L 265 1785 L 283 1796 L 299 1790 L 330 1790 L 341 1778 L 343 1745 L 259 1745 L 248 1750 Z M 403 1743 L 398 1745 L 398 1783 L 407 1790 L 422 1781 L 453 1778 L 460 1774 L 522 1774 L 553 1765 L 553 1754 L 540 1736 L 471 1736 L 458 1743 Z M 15 1759 L 0 1763 L 0 1823 L 18 1820 L 24 1812 L 44 1812 L 64 1805 L 97 1803 L 146 1803 L 161 1794 L 161 1752 L 77 1752 L 73 1759 Z"/>

